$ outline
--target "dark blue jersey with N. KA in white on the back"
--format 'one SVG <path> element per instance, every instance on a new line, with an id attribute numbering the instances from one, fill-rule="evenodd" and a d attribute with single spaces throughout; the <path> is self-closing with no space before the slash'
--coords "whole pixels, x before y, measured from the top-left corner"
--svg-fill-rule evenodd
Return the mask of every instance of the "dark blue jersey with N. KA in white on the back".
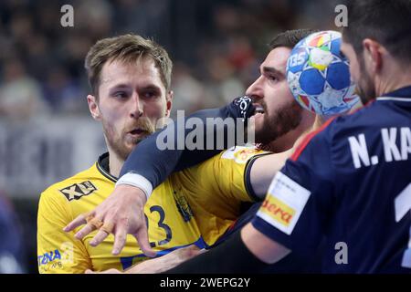
<path id="1" fill-rule="evenodd" d="M 411 87 L 300 144 L 252 224 L 323 273 L 411 272 Z"/>

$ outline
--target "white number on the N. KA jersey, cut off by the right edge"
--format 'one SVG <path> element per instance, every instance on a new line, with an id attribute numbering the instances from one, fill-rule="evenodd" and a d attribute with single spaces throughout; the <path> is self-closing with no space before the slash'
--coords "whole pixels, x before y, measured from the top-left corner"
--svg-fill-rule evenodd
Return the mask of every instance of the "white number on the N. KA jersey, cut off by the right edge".
<path id="1" fill-rule="evenodd" d="M 395 197 L 395 222 L 399 222 L 408 212 L 411 212 L 411 183 Z M 411 227 L 409 230 L 408 247 L 403 256 L 401 266 L 411 268 Z"/>

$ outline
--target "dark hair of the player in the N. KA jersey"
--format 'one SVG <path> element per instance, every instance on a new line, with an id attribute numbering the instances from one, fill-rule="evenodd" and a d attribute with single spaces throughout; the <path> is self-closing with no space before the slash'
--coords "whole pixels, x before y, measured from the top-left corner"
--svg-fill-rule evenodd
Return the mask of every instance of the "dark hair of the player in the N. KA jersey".
<path id="1" fill-rule="evenodd" d="M 349 0 L 347 8 L 342 37 L 357 54 L 363 52 L 364 38 L 371 38 L 397 59 L 411 61 L 410 0 Z"/>

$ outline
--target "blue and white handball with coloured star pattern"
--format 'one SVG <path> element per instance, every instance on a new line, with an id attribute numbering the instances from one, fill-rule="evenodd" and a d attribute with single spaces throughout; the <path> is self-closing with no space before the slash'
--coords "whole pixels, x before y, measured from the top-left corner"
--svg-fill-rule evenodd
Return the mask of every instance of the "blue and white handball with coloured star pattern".
<path id="1" fill-rule="evenodd" d="M 348 60 L 340 52 L 341 41 L 336 31 L 314 33 L 300 40 L 287 62 L 292 95 L 303 108 L 321 116 L 350 110 L 359 100 Z"/>

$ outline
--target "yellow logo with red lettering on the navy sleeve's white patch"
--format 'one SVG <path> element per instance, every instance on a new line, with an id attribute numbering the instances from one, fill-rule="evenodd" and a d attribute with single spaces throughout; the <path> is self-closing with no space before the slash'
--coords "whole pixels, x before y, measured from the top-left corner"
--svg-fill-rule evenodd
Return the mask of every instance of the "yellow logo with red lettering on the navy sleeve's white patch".
<path id="1" fill-rule="evenodd" d="M 261 210 L 284 226 L 290 225 L 290 221 L 295 214 L 294 209 L 273 196 L 268 196 L 264 203 L 262 203 Z"/>

